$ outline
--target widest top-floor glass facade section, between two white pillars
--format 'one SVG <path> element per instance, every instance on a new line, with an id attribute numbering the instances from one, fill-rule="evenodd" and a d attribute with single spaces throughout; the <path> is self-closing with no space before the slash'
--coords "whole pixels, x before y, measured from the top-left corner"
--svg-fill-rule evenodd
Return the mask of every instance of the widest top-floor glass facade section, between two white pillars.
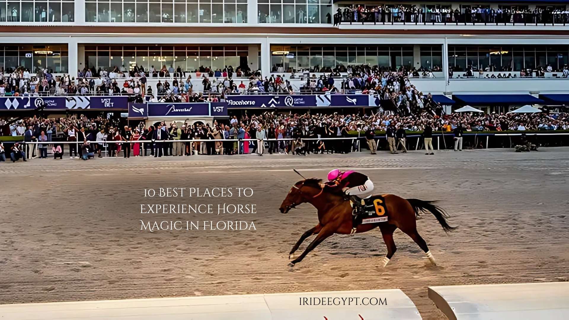
<path id="1" fill-rule="evenodd" d="M 85 0 L 85 21 L 246 23 L 247 0 Z"/>

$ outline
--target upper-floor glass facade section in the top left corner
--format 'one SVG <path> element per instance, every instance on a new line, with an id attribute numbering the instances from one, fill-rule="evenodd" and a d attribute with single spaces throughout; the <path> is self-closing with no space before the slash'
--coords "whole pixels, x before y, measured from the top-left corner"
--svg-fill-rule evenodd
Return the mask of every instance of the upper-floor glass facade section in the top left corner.
<path id="1" fill-rule="evenodd" d="M 0 22 L 73 22 L 74 16 L 72 0 L 0 0 Z"/>

